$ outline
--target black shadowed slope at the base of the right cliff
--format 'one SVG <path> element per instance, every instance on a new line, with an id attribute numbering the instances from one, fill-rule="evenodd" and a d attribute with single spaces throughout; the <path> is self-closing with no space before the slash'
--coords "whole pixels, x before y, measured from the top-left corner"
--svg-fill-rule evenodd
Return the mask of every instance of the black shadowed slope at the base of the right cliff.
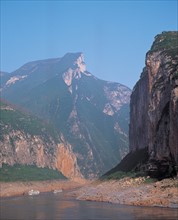
<path id="1" fill-rule="evenodd" d="M 176 166 L 171 161 L 150 160 L 148 148 L 130 152 L 116 167 L 105 173 L 101 179 L 108 177 L 112 179 L 111 176 L 114 177 L 113 174 L 118 172 L 123 172 L 122 176 L 150 176 L 158 180 L 173 178 L 177 175 Z"/>

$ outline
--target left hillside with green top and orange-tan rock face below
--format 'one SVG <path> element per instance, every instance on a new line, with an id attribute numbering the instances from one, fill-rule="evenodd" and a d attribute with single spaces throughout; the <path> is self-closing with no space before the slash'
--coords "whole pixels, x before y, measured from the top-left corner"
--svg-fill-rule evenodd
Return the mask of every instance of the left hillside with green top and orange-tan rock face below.
<path id="1" fill-rule="evenodd" d="M 82 178 L 70 145 L 53 126 L 1 101 L 0 131 L 0 167 L 36 165 L 57 169 L 71 179 Z M 65 157 L 62 153 L 59 157 L 59 151 L 65 151 Z M 72 167 L 63 169 L 59 164 L 66 160 L 72 160 Z"/>

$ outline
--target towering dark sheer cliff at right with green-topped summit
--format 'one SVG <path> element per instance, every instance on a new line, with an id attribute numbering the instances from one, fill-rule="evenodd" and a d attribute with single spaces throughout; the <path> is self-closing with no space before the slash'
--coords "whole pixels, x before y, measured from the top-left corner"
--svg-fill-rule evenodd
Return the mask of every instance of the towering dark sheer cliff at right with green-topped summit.
<path id="1" fill-rule="evenodd" d="M 178 165 L 178 32 L 155 37 L 130 104 L 130 151 L 148 148 L 151 175 Z"/>

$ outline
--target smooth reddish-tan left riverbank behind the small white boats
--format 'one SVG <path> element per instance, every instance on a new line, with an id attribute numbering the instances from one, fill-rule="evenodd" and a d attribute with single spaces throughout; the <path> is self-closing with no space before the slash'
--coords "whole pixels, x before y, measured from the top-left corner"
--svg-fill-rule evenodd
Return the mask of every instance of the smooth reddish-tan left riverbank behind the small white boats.
<path id="1" fill-rule="evenodd" d="M 54 190 L 74 190 L 83 186 L 84 181 L 46 180 L 30 182 L 0 182 L 0 197 L 20 196 L 28 194 L 30 190 L 50 192 Z"/>

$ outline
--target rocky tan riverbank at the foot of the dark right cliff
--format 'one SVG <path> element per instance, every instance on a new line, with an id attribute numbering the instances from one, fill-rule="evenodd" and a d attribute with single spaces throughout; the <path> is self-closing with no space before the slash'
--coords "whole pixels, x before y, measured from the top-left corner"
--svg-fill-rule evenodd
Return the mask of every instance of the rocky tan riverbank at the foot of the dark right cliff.
<path id="1" fill-rule="evenodd" d="M 144 177 L 96 181 L 72 195 L 78 200 L 178 208 L 178 179 L 148 182 Z"/>

